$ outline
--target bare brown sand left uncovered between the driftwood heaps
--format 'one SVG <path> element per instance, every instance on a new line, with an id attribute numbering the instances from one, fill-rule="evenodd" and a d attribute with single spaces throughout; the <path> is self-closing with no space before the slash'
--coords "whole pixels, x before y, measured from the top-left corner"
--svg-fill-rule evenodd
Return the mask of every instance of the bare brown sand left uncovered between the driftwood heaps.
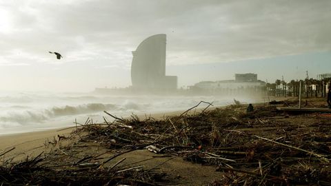
<path id="1" fill-rule="evenodd" d="M 216 109 L 216 107 L 211 107 L 209 110 Z M 194 109 L 190 111 L 190 113 L 201 112 L 203 109 Z M 138 117 L 141 120 L 146 118 L 154 118 L 154 119 L 163 119 L 168 116 L 178 116 L 185 112 L 185 110 L 175 111 L 175 112 L 166 112 L 166 113 L 157 113 L 157 114 L 144 114 L 139 115 Z M 4 136 L 0 136 L 0 150 L 2 152 L 10 152 L 6 153 L 6 155 L 2 156 L 3 159 L 12 159 L 13 161 L 21 161 L 27 157 L 34 157 L 39 155 L 40 153 L 48 152 L 49 149 L 47 143 L 50 141 L 58 140 L 57 135 L 60 136 L 70 136 L 70 133 L 76 130 L 76 127 L 66 127 L 54 130 L 45 130 L 39 132 L 26 132 L 21 134 L 8 134 Z M 69 140 L 63 142 L 61 146 L 66 146 L 74 143 L 74 140 Z M 60 146 L 56 146 L 60 148 Z M 101 153 L 102 149 L 99 148 L 99 145 L 94 146 L 91 145 L 88 149 L 84 149 L 84 153 L 86 156 L 88 154 L 93 153 Z M 122 156 L 118 158 L 114 158 L 114 161 L 119 161 Z M 135 163 L 139 161 L 148 161 L 153 159 L 153 161 L 148 161 L 148 165 L 146 168 L 150 168 L 153 166 L 157 166 L 164 161 L 168 161 L 168 156 L 156 158 L 154 154 L 148 152 L 148 150 L 137 150 L 135 152 L 130 152 L 125 155 L 126 163 Z M 185 183 L 208 183 L 210 182 L 210 178 L 216 179 L 219 176 L 219 173 L 214 172 L 214 167 L 205 167 L 203 165 L 194 165 L 192 163 L 188 163 L 183 161 L 182 158 L 173 158 L 169 161 L 167 166 L 163 167 L 164 172 L 172 172 L 172 174 L 177 174 Z M 201 172 L 201 169 L 204 172 Z M 192 174 L 196 176 L 191 176 Z M 186 185 L 186 184 L 184 184 Z M 190 184 L 189 184 L 190 185 Z"/>

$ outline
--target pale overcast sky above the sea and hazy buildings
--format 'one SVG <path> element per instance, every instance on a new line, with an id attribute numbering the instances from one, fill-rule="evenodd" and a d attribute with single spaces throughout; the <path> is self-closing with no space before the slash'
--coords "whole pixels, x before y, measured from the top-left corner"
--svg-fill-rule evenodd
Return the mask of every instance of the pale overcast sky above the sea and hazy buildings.
<path id="1" fill-rule="evenodd" d="M 248 71 L 315 77 L 331 72 L 330 20 L 328 0 L 0 1 L 0 90 L 127 87 L 131 51 L 161 33 L 179 86 Z"/>

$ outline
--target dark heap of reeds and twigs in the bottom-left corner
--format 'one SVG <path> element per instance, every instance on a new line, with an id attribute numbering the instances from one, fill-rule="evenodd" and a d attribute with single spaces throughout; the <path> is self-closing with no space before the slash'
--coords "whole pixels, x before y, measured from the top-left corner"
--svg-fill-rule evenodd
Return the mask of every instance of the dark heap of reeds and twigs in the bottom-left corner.
<path id="1" fill-rule="evenodd" d="M 93 159 L 92 156 L 77 158 L 75 153 L 71 148 L 59 148 L 47 154 L 42 152 L 34 158 L 26 158 L 19 163 L 5 161 L 0 166 L 0 184 L 164 185 L 170 183 L 170 180 L 174 183 L 174 178 L 155 169 L 143 169 L 142 165 L 131 167 L 119 165 L 125 158 L 106 167 L 98 161 L 90 161 Z"/>

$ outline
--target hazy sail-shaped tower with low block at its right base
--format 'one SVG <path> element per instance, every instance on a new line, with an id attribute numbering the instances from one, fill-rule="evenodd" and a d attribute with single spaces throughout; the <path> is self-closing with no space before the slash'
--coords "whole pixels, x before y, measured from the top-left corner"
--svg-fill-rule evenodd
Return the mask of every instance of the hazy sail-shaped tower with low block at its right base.
<path id="1" fill-rule="evenodd" d="M 166 35 L 143 40 L 132 52 L 131 81 L 137 90 L 175 90 L 177 76 L 165 76 Z"/>

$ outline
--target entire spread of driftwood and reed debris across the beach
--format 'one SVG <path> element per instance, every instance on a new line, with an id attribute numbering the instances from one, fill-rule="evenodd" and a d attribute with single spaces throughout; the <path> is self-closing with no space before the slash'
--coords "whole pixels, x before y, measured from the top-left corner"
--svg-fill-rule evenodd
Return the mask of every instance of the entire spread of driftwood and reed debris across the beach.
<path id="1" fill-rule="evenodd" d="M 204 109 L 196 110 L 202 104 Z M 145 169 L 138 162 L 124 166 L 125 158 L 118 160 L 148 150 L 169 156 L 169 161 L 182 157 L 214 167 L 219 179 L 210 185 L 331 185 L 331 115 L 287 114 L 277 112 L 275 105 L 254 105 L 253 112 L 246 112 L 247 105 L 238 102 L 211 106 L 201 101 L 163 119 L 119 118 L 105 111 L 103 123 L 90 118 L 75 122 L 68 138 L 75 136 L 76 143 L 60 147 L 61 141 L 54 139 L 48 143 L 50 152 L 19 164 L 3 163 L 0 178 L 28 185 L 177 184 L 173 175 L 157 169 L 161 164 Z M 79 154 L 84 144 L 103 150 Z"/>

